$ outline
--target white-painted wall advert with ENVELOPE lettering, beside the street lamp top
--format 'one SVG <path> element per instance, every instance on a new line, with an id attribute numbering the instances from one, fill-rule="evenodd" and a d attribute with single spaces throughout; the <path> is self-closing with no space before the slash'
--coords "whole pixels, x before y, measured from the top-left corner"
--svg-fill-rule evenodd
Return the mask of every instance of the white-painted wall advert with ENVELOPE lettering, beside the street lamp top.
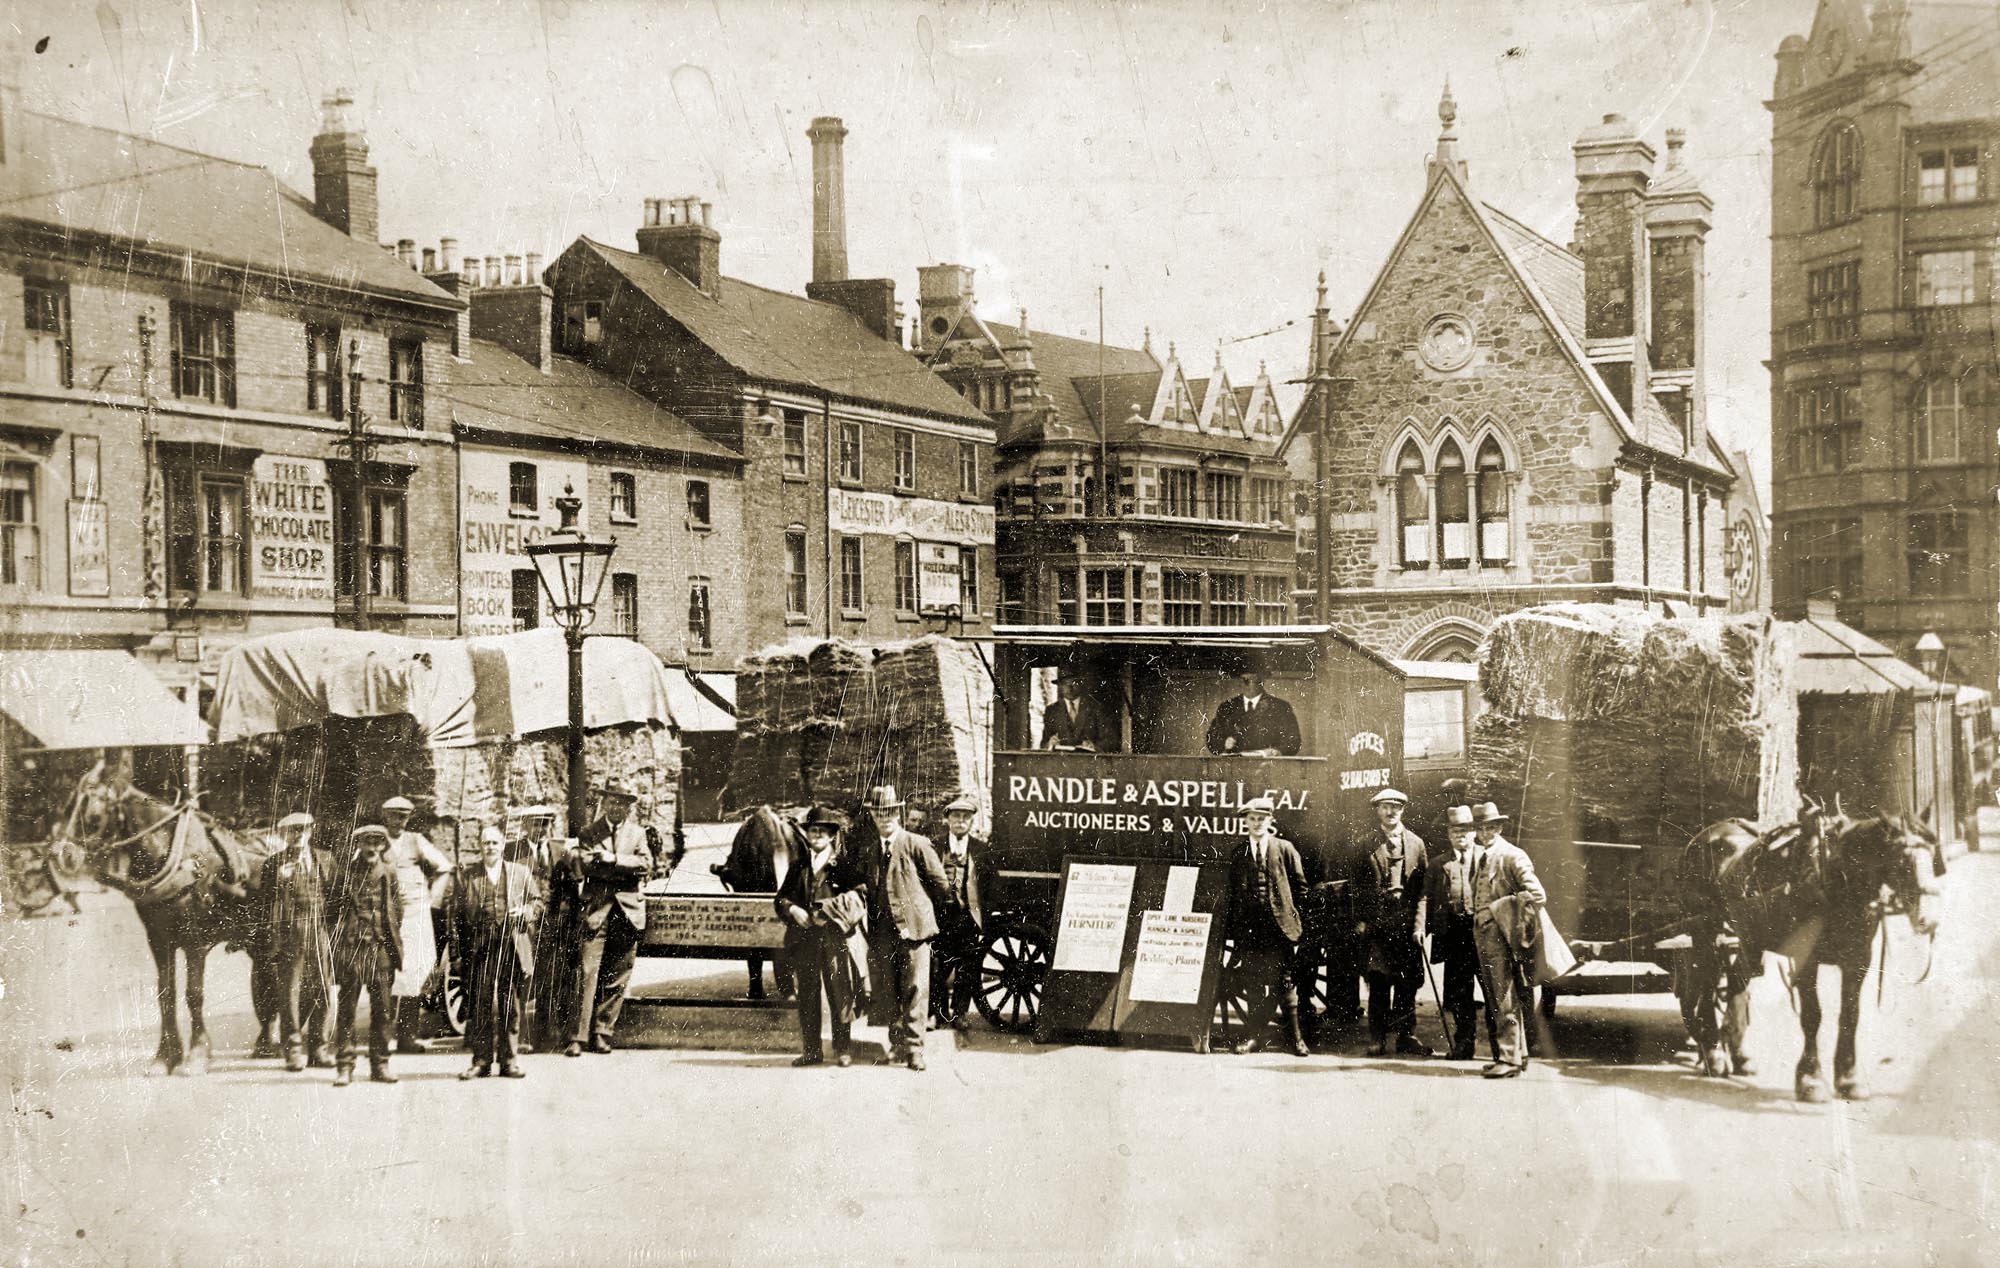
<path id="1" fill-rule="evenodd" d="M 562 524 L 556 498 L 564 488 L 584 500 L 578 524 L 590 524 L 588 474 L 582 462 L 466 446 L 458 458 L 462 634 L 512 634 L 546 620 L 548 598 L 526 548 Z"/>

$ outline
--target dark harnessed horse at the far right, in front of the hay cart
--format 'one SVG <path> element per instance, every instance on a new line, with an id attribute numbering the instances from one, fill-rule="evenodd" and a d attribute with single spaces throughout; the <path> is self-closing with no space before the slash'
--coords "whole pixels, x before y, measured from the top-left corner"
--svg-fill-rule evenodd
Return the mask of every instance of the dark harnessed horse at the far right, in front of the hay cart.
<path id="1" fill-rule="evenodd" d="M 1744 992 L 1762 972 L 1764 952 L 1776 952 L 1792 958 L 1804 1032 L 1794 1094 L 1804 1102 L 1828 1100 L 1820 1074 L 1820 966 L 1828 964 L 1840 970 L 1834 1092 L 1866 1100 L 1856 1034 L 1870 942 L 1892 914 L 1908 916 L 1910 928 L 1936 938 L 1938 876 L 1944 876 L 1938 838 L 1902 816 L 1850 820 L 1838 806 L 1828 814 L 1808 802 L 1798 824 L 1770 832 L 1740 818 L 1710 824 L 1688 842 L 1678 876 L 1694 940 L 1682 1016 L 1702 1050 L 1702 1072 L 1752 1072 L 1742 1054 L 1750 1024 Z"/>

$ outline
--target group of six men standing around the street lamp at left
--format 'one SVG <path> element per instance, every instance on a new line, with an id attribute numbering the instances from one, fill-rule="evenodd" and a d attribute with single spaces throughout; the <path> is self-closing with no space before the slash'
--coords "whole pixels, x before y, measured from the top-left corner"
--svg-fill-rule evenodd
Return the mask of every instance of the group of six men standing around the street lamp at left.
<path id="1" fill-rule="evenodd" d="M 258 950 L 276 994 L 286 1068 L 334 1066 L 336 1086 L 352 1082 L 364 990 L 370 1078 L 396 1082 L 392 1024 L 398 1052 L 424 1050 L 416 1022 L 438 964 L 432 884 L 440 878 L 448 878 L 438 906 L 464 984 L 472 1056 L 460 1078 L 492 1076 L 494 1066 L 504 1078 L 524 1078 L 518 1056 L 536 1048 L 610 1052 L 646 928 L 640 886 L 670 872 L 676 858 L 656 828 L 632 816 L 630 790 L 606 784 L 598 802 L 600 816 L 574 844 L 552 836 L 550 806 L 516 812 L 516 842 L 486 824 L 478 860 L 462 868 L 410 830 L 416 806 L 402 796 L 382 804 L 380 824 L 358 826 L 338 858 L 312 844 L 310 814 L 280 820 L 280 848 L 260 876 Z M 262 1042 L 256 1054 L 276 1056 Z"/>

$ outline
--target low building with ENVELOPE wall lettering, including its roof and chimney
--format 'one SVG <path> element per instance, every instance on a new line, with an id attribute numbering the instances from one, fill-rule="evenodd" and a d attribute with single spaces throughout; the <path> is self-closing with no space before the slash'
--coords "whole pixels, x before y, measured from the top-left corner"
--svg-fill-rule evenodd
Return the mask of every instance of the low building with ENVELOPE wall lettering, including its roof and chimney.
<path id="1" fill-rule="evenodd" d="M 578 522 L 618 540 L 592 632 L 636 638 L 670 666 L 732 668 L 752 650 L 740 580 L 742 458 L 556 354 L 554 294 L 534 280 L 538 260 L 494 264 L 492 274 L 460 274 L 472 308 L 450 400 L 462 632 L 548 620 L 524 546 L 560 524 L 556 498 L 574 492 Z"/>

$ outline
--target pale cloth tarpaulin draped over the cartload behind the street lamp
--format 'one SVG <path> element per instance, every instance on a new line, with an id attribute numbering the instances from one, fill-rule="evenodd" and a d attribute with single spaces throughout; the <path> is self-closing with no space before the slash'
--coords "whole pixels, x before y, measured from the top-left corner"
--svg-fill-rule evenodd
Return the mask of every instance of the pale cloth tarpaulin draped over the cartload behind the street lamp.
<path id="1" fill-rule="evenodd" d="M 232 648 L 208 722 L 218 742 L 314 726 L 328 716 L 410 714 L 432 748 L 568 726 L 562 630 L 426 640 L 364 630 L 292 630 Z M 584 642 L 584 726 L 670 724 L 666 670 L 630 638 Z"/>

